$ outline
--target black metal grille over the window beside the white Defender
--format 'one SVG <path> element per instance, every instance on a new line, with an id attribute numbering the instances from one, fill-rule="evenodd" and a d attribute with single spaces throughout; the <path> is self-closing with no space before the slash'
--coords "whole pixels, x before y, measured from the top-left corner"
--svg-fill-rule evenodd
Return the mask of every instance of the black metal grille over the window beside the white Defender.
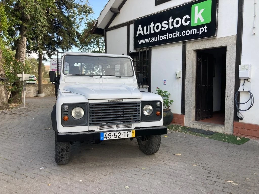
<path id="1" fill-rule="evenodd" d="M 139 73 L 143 73 L 143 82 L 140 87 L 148 88 L 150 85 L 150 62 L 149 62 L 149 50 L 140 49 L 130 52 L 130 56 L 133 59 L 133 66 L 138 76 Z"/>

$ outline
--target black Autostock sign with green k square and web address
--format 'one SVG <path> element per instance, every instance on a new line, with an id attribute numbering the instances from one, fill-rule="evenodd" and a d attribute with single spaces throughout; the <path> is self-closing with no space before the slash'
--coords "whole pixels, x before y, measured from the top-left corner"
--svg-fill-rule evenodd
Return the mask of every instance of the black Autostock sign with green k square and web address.
<path id="1" fill-rule="evenodd" d="M 134 20 L 134 49 L 217 35 L 217 0 L 199 0 Z"/>

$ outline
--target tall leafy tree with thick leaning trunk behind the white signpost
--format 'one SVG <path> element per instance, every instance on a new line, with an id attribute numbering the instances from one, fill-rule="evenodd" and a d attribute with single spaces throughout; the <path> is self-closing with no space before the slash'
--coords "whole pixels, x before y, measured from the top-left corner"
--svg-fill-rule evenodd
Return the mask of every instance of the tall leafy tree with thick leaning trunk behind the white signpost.
<path id="1" fill-rule="evenodd" d="M 31 42 L 34 36 L 37 36 L 38 43 L 44 40 L 44 34 L 47 31 L 47 18 L 52 17 L 55 9 L 55 0 L 4 0 L 6 7 L 11 11 L 11 15 L 16 21 L 10 32 L 16 36 L 13 41 L 13 48 L 16 50 L 15 59 L 18 63 L 25 63 L 25 54 L 27 41 Z M 19 35 L 17 36 L 17 32 Z M 20 73 L 14 66 L 14 73 Z M 17 90 L 11 92 L 9 102 L 21 102 L 22 84 L 19 81 L 13 83 Z"/>

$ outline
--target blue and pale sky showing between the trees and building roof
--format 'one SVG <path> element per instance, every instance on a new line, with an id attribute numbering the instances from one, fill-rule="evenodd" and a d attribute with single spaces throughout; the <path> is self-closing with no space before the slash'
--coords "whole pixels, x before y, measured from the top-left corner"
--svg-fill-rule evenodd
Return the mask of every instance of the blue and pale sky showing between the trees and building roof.
<path id="1" fill-rule="evenodd" d="M 88 0 L 89 5 L 92 6 L 93 11 L 94 11 L 94 13 L 91 14 L 90 17 L 93 17 L 93 19 L 97 19 L 108 1 L 109 0 Z M 81 24 L 80 30 L 82 31 L 84 29 L 84 27 L 85 27 L 85 25 L 84 25 L 84 21 L 83 21 Z M 73 47 L 71 51 L 79 52 L 78 48 L 75 48 L 75 47 Z M 62 52 L 62 51 L 60 50 L 60 52 Z M 33 53 L 30 56 L 34 57 L 34 58 L 38 58 L 37 53 Z M 53 57 L 56 57 L 56 56 L 53 56 Z M 44 63 L 44 65 L 50 65 L 50 62 L 47 62 L 47 61 L 44 61 L 43 63 Z"/>

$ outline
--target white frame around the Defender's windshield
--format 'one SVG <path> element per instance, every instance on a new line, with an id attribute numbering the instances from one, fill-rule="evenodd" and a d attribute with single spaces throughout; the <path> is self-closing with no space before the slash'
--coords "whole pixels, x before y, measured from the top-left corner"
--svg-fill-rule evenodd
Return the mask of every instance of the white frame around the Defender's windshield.
<path id="1" fill-rule="evenodd" d="M 78 77 L 78 75 L 72 75 L 72 74 L 66 74 L 65 73 L 65 57 L 66 56 L 83 56 L 83 57 L 105 57 L 105 58 L 124 58 L 124 59 L 129 59 L 130 60 L 130 64 L 131 64 L 131 68 L 132 68 L 132 75 L 131 76 L 123 76 L 123 75 L 120 75 L 120 77 L 134 77 L 135 75 L 135 70 L 134 70 L 134 66 L 133 66 L 133 63 L 132 63 L 132 58 L 131 57 L 119 57 L 119 56 L 103 56 L 103 55 L 76 55 L 76 54 L 65 54 L 63 55 L 63 60 L 62 60 L 62 73 L 66 76 L 75 76 L 75 77 Z M 92 76 L 89 76 L 88 74 L 82 74 L 80 76 L 86 76 L 86 77 L 92 77 L 92 76 L 99 76 L 99 77 L 105 77 L 105 75 L 92 75 Z M 114 76 L 111 76 L 111 75 L 107 75 L 107 76 L 110 76 L 110 77 L 118 77 L 116 75 Z"/>

